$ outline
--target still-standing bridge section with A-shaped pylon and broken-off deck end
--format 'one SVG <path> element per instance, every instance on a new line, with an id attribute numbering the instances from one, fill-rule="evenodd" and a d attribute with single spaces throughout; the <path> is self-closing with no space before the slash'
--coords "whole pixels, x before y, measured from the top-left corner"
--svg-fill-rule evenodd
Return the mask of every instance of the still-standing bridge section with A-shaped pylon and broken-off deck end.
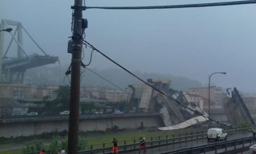
<path id="1" fill-rule="evenodd" d="M 6 50 L 4 50 L 4 33 L 0 32 L 0 83 L 24 83 L 24 74 L 27 69 L 38 66 L 48 65 L 59 61 L 58 57 L 49 56 L 46 52 L 35 42 L 29 35 L 28 31 L 22 26 L 20 22 L 12 20 L 1 20 L 0 29 L 5 27 L 15 26 L 14 33 L 10 32 L 12 40 L 10 41 Z M 32 54 L 23 47 L 22 30 L 31 38 L 35 45 L 40 49 L 43 55 Z M 16 36 L 17 35 L 17 36 Z M 16 38 L 17 37 L 17 38 Z M 8 57 L 10 46 L 13 40 L 17 43 L 16 56 Z"/>

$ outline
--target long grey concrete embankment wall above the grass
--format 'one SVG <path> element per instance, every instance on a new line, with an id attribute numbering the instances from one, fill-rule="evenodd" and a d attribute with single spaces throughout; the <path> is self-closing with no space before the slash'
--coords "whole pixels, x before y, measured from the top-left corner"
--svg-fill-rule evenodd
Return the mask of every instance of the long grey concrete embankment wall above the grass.
<path id="1" fill-rule="evenodd" d="M 163 127 L 163 120 L 159 115 L 147 116 L 113 116 L 102 118 L 80 119 L 80 131 L 106 130 L 106 128 L 140 128 Z M 0 137 L 19 137 L 40 135 L 46 132 L 68 130 L 68 119 L 49 121 L 19 121 L 0 124 Z"/>

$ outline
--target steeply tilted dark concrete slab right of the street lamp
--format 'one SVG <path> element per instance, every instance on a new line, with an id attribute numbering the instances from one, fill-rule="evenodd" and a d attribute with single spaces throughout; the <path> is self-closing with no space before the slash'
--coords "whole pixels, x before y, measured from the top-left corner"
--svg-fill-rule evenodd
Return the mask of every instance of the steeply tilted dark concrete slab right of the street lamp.
<path id="1" fill-rule="evenodd" d="M 236 88 L 232 91 L 231 98 L 224 99 L 224 101 L 227 118 L 231 125 L 237 126 L 244 122 L 249 125 L 255 124 Z"/>

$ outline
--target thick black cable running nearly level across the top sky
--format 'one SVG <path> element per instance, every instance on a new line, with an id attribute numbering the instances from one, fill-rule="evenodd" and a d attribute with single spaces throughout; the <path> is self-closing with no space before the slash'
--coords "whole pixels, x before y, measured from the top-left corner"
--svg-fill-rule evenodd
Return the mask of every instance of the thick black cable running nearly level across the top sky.
<path id="1" fill-rule="evenodd" d="M 241 4 L 255 4 L 256 0 L 250 1 L 230 1 L 230 2 L 219 2 L 219 3 L 201 3 L 201 4 L 180 4 L 180 5 L 164 5 L 164 6 L 84 6 L 84 9 L 105 9 L 105 10 L 150 10 L 150 9 L 170 9 L 170 8 L 202 8 L 212 6 L 230 6 L 230 5 L 241 5 Z"/>

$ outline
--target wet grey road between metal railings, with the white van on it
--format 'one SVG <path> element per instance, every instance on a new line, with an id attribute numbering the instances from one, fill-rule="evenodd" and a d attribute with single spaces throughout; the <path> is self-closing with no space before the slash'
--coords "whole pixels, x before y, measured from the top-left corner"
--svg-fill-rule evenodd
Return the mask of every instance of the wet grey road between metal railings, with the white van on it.
<path id="1" fill-rule="evenodd" d="M 240 139 L 243 137 L 250 137 L 252 136 L 252 133 L 250 132 L 239 132 L 236 134 L 228 134 L 228 140 L 233 140 L 233 139 Z M 141 150 L 141 153 L 147 153 L 147 154 L 156 154 L 156 153 L 163 153 L 163 152 L 168 152 L 168 151 L 173 151 L 173 150 L 178 150 L 178 149 L 183 149 L 183 148 L 189 148 L 192 146 L 201 146 L 204 144 L 208 144 L 208 143 L 212 143 L 215 141 L 210 141 L 208 142 L 207 139 L 198 139 L 195 141 L 187 141 L 187 142 L 180 142 L 180 143 L 174 143 L 174 144 L 170 144 L 167 146 L 160 146 L 157 148 L 147 148 L 147 138 L 146 138 L 146 152 L 144 152 L 143 150 Z M 125 152 L 127 154 L 138 154 L 138 150 L 136 151 L 129 151 L 129 152 Z"/>

